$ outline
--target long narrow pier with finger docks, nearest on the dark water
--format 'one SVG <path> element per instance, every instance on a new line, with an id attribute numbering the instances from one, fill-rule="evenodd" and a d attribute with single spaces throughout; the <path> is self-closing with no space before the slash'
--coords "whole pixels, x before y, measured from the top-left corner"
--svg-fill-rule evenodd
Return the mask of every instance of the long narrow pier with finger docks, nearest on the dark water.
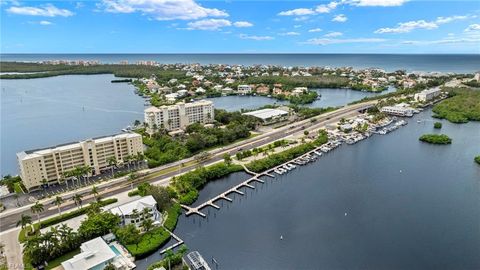
<path id="1" fill-rule="evenodd" d="M 303 157 L 306 157 L 306 156 L 310 156 L 312 154 L 315 154 L 315 155 L 318 155 L 318 150 L 320 149 L 320 147 L 317 147 L 299 157 L 296 157 L 295 159 L 298 159 L 298 158 L 303 158 Z M 292 160 L 289 160 L 285 163 L 282 163 L 276 167 L 273 167 L 273 168 L 270 168 L 262 173 L 255 173 L 255 172 L 252 172 L 250 170 L 248 170 L 248 168 L 245 166 L 245 165 L 242 165 L 245 172 L 247 172 L 248 174 L 252 175 L 252 177 L 248 178 L 247 180 L 243 181 L 242 183 L 228 189 L 227 191 L 213 197 L 212 199 L 196 206 L 196 207 L 190 207 L 190 206 L 187 206 L 187 205 L 181 205 L 183 209 L 186 210 L 185 212 L 185 215 L 186 216 L 190 216 L 192 214 L 197 214 L 203 218 L 207 217 L 207 215 L 205 215 L 204 213 L 202 213 L 200 210 L 207 207 L 207 206 L 210 206 L 210 207 L 213 207 L 215 209 L 220 209 L 220 206 L 218 206 L 215 202 L 217 201 L 220 201 L 220 200 L 225 200 L 225 201 L 228 201 L 228 202 L 233 202 L 233 200 L 231 198 L 229 198 L 227 195 L 231 194 L 231 193 L 237 193 L 237 194 L 240 194 L 240 195 L 244 195 L 245 193 L 240 191 L 239 189 L 240 188 L 243 188 L 243 187 L 247 187 L 247 188 L 251 188 L 251 189 L 255 189 L 255 186 L 251 185 L 250 183 L 252 182 L 259 182 L 259 183 L 265 183 L 265 181 L 263 181 L 262 179 L 260 179 L 259 177 L 261 176 L 268 176 L 268 177 L 272 177 L 274 178 L 275 176 L 272 174 L 272 172 L 274 170 L 276 170 L 277 168 L 280 168 L 280 167 L 283 167 L 285 166 L 286 164 L 289 164 L 289 163 L 292 163 Z"/>

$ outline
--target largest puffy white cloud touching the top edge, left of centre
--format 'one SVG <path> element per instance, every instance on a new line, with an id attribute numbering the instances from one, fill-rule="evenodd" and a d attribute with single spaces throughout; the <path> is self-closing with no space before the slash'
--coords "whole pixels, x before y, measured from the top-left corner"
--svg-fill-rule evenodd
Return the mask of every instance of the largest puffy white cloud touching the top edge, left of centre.
<path id="1" fill-rule="evenodd" d="M 156 20 L 196 20 L 205 17 L 228 17 L 225 11 L 202 7 L 194 0 L 103 0 L 98 6 L 112 13 L 140 12 Z"/>

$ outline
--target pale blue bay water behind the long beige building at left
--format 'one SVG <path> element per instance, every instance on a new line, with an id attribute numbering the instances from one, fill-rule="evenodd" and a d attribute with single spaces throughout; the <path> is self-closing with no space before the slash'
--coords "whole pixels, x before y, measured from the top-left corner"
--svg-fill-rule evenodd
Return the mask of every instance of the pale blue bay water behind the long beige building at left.
<path id="1" fill-rule="evenodd" d="M 113 75 L 1 80 L 1 169 L 17 174 L 16 153 L 120 133 L 143 119 L 143 99 Z"/>

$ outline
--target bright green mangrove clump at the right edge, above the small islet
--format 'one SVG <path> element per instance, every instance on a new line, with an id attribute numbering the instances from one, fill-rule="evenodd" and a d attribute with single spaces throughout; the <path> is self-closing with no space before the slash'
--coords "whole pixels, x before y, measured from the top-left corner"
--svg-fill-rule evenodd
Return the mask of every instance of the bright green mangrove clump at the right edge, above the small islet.
<path id="1" fill-rule="evenodd" d="M 452 123 L 480 121 L 480 91 L 467 88 L 444 88 L 451 96 L 435 105 L 433 117 Z"/>

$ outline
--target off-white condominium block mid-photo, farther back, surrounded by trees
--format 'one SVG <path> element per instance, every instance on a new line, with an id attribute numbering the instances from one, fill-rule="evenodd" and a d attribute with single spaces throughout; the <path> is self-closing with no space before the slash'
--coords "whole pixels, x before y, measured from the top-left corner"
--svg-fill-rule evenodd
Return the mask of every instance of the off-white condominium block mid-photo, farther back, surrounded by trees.
<path id="1" fill-rule="evenodd" d="M 155 128 L 175 130 L 193 123 L 207 124 L 213 122 L 213 119 L 213 102 L 208 100 L 145 109 L 145 123 L 149 133 Z"/>

